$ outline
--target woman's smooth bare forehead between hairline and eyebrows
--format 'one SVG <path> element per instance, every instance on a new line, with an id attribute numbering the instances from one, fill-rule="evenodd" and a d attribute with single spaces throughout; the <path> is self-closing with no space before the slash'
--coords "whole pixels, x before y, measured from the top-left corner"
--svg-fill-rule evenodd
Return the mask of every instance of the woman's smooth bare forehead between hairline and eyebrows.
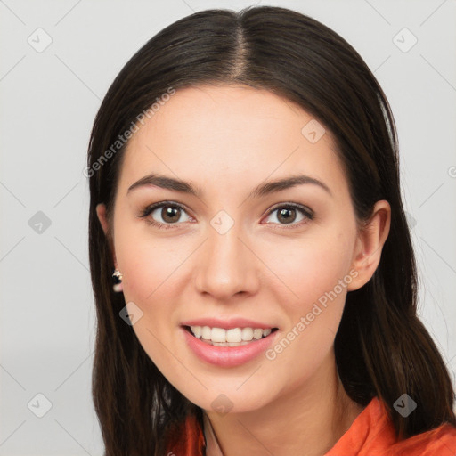
<path id="1" fill-rule="evenodd" d="M 179 89 L 143 126 L 138 124 L 126 148 L 120 185 L 158 172 L 228 190 L 234 182 L 255 184 L 269 175 L 302 171 L 325 177 L 338 191 L 345 176 L 332 135 L 326 131 L 309 141 L 309 125 L 317 135 L 324 132 L 296 103 L 266 90 L 246 85 Z"/>

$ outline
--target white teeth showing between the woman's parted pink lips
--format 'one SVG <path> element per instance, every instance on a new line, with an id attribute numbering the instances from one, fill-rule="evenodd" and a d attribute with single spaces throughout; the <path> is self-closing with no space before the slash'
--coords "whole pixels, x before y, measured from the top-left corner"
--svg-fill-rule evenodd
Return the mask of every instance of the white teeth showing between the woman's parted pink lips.
<path id="1" fill-rule="evenodd" d="M 245 346 L 267 338 L 278 328 L 211 328 L 209 326 L 183 326 L 193 337 L 211 346 Z"/>

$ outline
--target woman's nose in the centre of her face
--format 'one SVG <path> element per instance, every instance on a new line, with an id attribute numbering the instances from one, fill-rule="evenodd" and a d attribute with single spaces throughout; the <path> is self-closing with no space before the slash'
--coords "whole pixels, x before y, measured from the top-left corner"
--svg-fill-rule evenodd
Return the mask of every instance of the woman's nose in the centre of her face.
<path id="1" fill-rule="evenodd" d="M 195 286 L 199 293 L 219 301 L 256 293 L 261 262 L 243 238 L 238 224 L 223 234 L 208 227 L 208 239 L 197 257 Z"/>

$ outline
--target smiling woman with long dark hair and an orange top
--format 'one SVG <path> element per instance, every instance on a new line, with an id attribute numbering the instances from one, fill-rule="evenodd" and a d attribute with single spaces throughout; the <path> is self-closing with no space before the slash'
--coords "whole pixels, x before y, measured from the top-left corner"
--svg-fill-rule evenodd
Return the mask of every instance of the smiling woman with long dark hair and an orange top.
<path id="1" fill-rule="evenodd" d="M 87 165 L 107 455 L 456 452 L 394 119 L 343 38 L 277 7 L 178 20 Z"/>

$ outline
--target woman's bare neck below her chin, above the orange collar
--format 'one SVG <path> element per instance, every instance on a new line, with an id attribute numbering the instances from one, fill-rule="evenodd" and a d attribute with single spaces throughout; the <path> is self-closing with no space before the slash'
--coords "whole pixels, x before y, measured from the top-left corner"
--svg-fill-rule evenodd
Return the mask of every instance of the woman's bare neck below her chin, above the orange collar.
<path id="1" fill-rule="evenodd" d="M 362 411 L 338 378 L 334 352 L 312 379 L 265 407 L 224 416 L 205 411 L 224 456 L 322 456 Z M 207 434 L 208 435 L 208 434 Z M 213 443 L 208 443 L 208 456 Z"/>

